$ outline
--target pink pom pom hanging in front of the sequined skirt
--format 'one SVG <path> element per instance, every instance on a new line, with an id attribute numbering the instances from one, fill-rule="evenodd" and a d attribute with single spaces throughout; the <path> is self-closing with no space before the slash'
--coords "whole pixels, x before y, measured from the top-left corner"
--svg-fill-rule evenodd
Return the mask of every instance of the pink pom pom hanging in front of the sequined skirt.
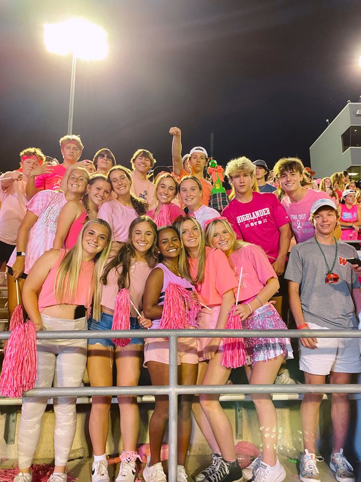
<path id="1" fill-rule="evenodd" d="M 242 321 L 232 306 L 226 330 L 242 330 Z M 247 365 L 246 347 L 243 338 L 224 338 L 221 365 L 226 368 L 238 368 Z"/>

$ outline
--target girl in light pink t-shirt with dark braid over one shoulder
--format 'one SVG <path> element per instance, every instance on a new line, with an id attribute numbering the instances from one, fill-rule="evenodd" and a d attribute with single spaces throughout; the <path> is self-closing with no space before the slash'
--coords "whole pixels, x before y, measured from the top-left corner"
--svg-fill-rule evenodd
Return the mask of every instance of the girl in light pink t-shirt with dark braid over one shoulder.
<path id="1" fill-rule="evenodd" d="M 128 168 L 114 166 L 109 171 L 108 180 L 116 198 L 102 204 L 99 217 L 109 223 L 113 232 L 112 241 L 117 243 L 115 246 L 119 249 L 118 243 L 127 241 L 131 222 L 148 211 L 148 203 L 131 194 L 132 177 Z"/>

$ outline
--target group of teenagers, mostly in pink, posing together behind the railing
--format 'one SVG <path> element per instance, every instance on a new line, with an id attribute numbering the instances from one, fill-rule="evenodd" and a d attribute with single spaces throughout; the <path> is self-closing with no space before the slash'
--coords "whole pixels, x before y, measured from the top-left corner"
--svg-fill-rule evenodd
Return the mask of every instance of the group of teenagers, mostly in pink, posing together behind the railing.
<path id="1" fill-rule="evenodd" d="M 173 127 L 170 134 L 173 171 L 158 175 L 154 184 L 147 174 L 155 159 L 145 149 L 132 156 L 132 171 L 117 165 L 105 148 L 91 163 L 78 161 L 83 145 L 75 135 L 60 139 L 62 164 L 45 163 L 38 148 L 21 152 L 20 169 L 0 177 L 0 244 L 6 252 L 10 312 L 22 303 L 37 330 L 110 330 L 119 310 L 119 293 L 126 289 L 129 328 L 157 329 L 170 288 L 176 285 L 185 293 L 186 310 L 192 300 L 197 306 L 189 309 L 189 327 L 224 329 L 230 326 L 232 313 L 244 329 L 286 329 L 282 316 L 288 301 L 299 329 L 357 328 L 360 269 L 346 262 L 358 257 L 357 252 L 337 241 L 340 213 L 327 193 L 305 185 L 301 160 L 283 158 L 276 163 L 273 170 L 284 191 L 280 202 L 261 189 L 269 173 L 264 161 L 233 159 L 226 167 L 231 200 L 220 213 L 208 205 L 212 186 L 204 177 L 206 149 L 194 147 L 182 158 L 180 129 Z M 89 173 L 89 166 L 96 172 Z M 297 244 L 288 254 L 292 235 Z M 114 367 L 118 386 L 137 386 L 142 365 L 152 384 L 167 385 L 168 346 L 168 340 L 160 338 L 131 338 L 126 346 L 108 338 L 37 340 L 35 386 L 80 386 L 85 367 L 93 387 L 112 386 Z M 227 383 L 234 365 L 223 352 L 234 351 L 234 346 L 238 345 L 230 348 L 226 338 L 179 338 L 179 383 Z M 244 366 L 250 384 L 274 383 L 284 360 L 293 358 L 288 339 L 247 338 L 244 346 L 246 357 L 238 366 Z M 300 369 L 306 383 L 325 383 L 328 375 L 330 383 L 349 383 L 351 374 L 361 371 L 358 340 L 300 339 Z M 262 453 L 243 473 L 219 395 L 179 397 L 177 482 L 188 477 L 184 467 L 192 414 L 212 451 L 210 465 L 195 476 L 197 482 L 285 479 L 276 455 L 272 399 L 267 394 L 251 397 Z M 322 394 L 305 394 L 301 405 L 304 482 L 320 481 L 315 443 L 321 400 Z M 47 401 L 23 398 L 19 474 L 14 482 L 32 480 Z M 123 452 L 116 482 L 133 482 L 140 458 L 139 408 L 133 396 L 119 396 L 118 403 Z M 76 399 L 56 397 L 53 406 L 55 467 L 49 482 L 65 482 L 76 430 Z M 105 448 L 110 406 L 111 397 L 92 397 L 92 482 L 109 482 Z M 343 454 L 349 414 L 348 395 L 333 394 L 330 466 L 336 480 L 343 482 L 355 481 Z M 143 472 L 146 482 L 167 480 L 160 458 L 167 423 L 168 397 L 156 395 L 149 423 L 151 455 Z"/>

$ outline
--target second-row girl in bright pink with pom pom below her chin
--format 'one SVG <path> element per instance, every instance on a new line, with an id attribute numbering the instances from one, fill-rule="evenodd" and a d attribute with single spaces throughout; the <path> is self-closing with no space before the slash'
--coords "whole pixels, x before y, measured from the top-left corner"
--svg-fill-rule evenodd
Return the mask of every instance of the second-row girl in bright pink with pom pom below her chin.
<path id="1" fill-rule="evenodd" d="M 157 206 L 147 212 L 157 227 L 171 225 L 178 216 L 185 216 L 183 209 L 172 201 L 178 194 L 178 183 L 172 174 L 165 173 L 155 181 L 155 198 Z"/>

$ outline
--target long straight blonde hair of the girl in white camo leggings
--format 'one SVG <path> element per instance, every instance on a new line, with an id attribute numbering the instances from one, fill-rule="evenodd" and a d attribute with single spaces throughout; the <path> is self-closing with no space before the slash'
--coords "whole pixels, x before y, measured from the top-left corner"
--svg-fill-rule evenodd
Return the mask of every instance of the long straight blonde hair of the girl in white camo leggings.
<path id="1" fill-rule="evenodd" d="M 104 264 L 109 256 L 111 239 L 111 228 L 106 221 L 103 221 L 103 219 L 92 219 L 91 221 L 85 223 L 77 238 L 76 245 L 64 256 L 59 264 L 55 275 L 54 293 L 59 304 L 64 302 L 65 296 L 70 300 L 74 298 L 77 292 L 81 263 L 83 262 L 83 235 L 86 229 L 94 223 L 104 226 L 108 232 L 108 244 L 100 253 L 95 255 L 94 274 L 93 278 L 89 280 L 89 291 L 92 284 L 94 285 L 93 318 L 99 320 L 101 314 L 100 305 L 102 294 L 102 285 L 100 279 L 103 273 Z"/>

